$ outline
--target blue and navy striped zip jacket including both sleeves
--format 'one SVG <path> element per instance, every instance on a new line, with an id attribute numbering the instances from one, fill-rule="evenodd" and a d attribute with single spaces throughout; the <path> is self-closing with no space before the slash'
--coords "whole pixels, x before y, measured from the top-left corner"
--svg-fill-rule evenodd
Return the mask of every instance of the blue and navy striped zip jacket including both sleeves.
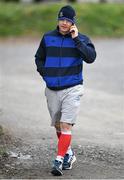
<path id="1" fill-rule="evenodd" d="M 90 39 L 82 34 L 72 39 L 59 30 L 44 34 L 35 54 L 37 71 L 48 88 L 62 90 L 83 83 L 83 61 L 94 62 L 96 51 Z"/>

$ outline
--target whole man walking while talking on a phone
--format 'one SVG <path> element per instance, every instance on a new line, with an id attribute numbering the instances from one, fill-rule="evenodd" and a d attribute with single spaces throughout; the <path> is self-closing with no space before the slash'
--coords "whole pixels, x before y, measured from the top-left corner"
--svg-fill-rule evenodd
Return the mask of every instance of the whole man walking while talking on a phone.
<path id="1" fill-rule="evenodd" d="M 35 55 L 37 71 L 46 82 L 45 96 L 51 125 L 58 136 L 57 156 L 51 173 L 61 176 L 76 161 L 71 131 L 83 94 L 83 62 L 93 63 L 96 52 L 91 40 L 78 32 L 75 10 L 67 5 L 58 13 L 58 26 L 45 33 Z"/>

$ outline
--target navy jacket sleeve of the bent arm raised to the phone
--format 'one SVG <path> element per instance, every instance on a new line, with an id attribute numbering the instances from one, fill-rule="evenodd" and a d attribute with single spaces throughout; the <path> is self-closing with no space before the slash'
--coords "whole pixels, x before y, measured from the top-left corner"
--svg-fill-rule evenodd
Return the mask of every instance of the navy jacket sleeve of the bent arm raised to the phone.
<path id="1" fill-rule="evenodd" d="M 86 63 L 93 63 L 96 58 L 95 47 L 89 38 L 81 39 L 79 36 L 74 38 L 75 45 L 80 56 Z"/>

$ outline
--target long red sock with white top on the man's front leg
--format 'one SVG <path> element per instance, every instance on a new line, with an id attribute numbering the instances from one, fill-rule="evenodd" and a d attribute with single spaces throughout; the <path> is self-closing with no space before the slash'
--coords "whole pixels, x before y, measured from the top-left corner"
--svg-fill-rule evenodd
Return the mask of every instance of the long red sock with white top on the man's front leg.
<path id="1" fill-rule="evenodd" d="M 61 136 L 58 142 L 58 153 L 57 156 L 62 156 L 66 154 L 68 147 L 71 143 L 71 132 L 61 132 Z"/>

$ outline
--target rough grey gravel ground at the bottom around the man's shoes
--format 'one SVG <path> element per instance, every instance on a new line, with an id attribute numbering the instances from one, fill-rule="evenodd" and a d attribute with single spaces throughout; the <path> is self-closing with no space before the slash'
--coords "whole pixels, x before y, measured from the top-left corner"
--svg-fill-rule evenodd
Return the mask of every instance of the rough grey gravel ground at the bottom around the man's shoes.
<path id="1" fill-rule="evenodd" d="M 42 138 L 40 144 L 10 141 L 7 155 L 0 157 L 0 177 L 3 179 L 55 179 L 50 173 L 56 144 L 52 138 Z M 11 143 L 10 143 L 11 142 Z M 47 143 L 46 143 L 47 142 Z M 74 145 L 77 163 L 64 171 L 60 179 L 123 179 L 124 149 L 96 144 Z"/>

